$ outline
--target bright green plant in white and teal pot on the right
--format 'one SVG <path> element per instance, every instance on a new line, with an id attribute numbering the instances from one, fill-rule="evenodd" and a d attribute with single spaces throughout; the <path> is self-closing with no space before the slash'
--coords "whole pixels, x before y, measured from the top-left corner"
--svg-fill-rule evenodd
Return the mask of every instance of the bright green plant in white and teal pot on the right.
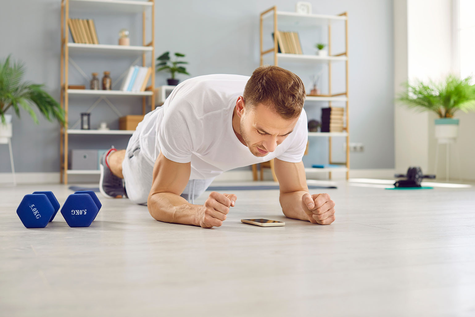
<path id="1" fill-rule="evenodd" d="M 458 119 L 454 119 L 457 110 L 475 111 L 475 85 L 472 77 L 461 79 L 448 75 L 440 82 L 425 83 L 416 80 L 414 84 L 405 83 L 406 91 L 398 100 L 419 111 L 433 111 L 439 118 L 435 120 L 435 135 L 438 143 L 448 143 L 458 134 Z"/>

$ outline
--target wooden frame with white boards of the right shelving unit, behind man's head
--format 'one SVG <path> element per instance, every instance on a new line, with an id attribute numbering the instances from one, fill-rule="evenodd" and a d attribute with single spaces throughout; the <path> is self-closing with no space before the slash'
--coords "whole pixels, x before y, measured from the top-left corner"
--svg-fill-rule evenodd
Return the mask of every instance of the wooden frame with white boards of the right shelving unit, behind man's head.
<path id="1" fill-rule="evenodd" d="M 302 55 L 302 54 L 283 54 L 278 53 L 278 45 L 277 45 L 277 36 L 274 36 L 274 47 L 270 49 L 264 50 L 263 48 L 263 21 L 272 19 L 273 21 L 273 32 L 277 34 L 278 31 L 278 17 L 283 17 L 284 19 L 290 19 L 292 23 L 295 24 L 299 23 L 301 20 L 304 21 L 302 25 L 312 25 L 314 21 L 318 21 L 318 23 L 314 23 L 315 25 L 327 25 L 328 28 L 328 56 L 327 57 L 318 57 L 318 56 L 309 56 L 309 55 Z M 339 53 L 337 55 L 332 55 L 332 23 L 342 21 L 345 24 L 345 51 L 343 53 Z M 318 14 L 297 14 L 294 12 L 282 12 L 277 11 L 277 6 L 269 8 L 263 12 L 261 12 L 259 17 L 259 28 L 260 28 L 260 45 L 259 45 L 259 52 L 260 52 L 260 66 L 263 65 L 264 56 L 269 53 L 274 53 L 274 65 L 278 66 L 279 59 L 282 59 L 284 62 L 285 60 L 293 60 L 293 61 L 306 61 L 306 62 L 313 62 L 313 63 L 321 63 L 325 62 L 328 63 L 328 95 L 327 97 L 307 97 L 308 101 L 328 101 L 328 105 L 332 106 L 332 102 L 339 101 L 345 103 L 345 116 L 346 116 L 346 126 L 343 128 L 343 133 L 346 134 L 346 163 L 345 168 L 339 169 L 339 171 L 346 172 L 346 179 L 350 178 L 350 116 L 349 116 L 349 95 L 348 95 L 348 13 L 343 12 L 339 15 L 318 15 Z M 345 92 L 332 94 L 332 63 L 333 62 L 344 62 L 345 63 Z M 341 96 L 341 99 L 336 99 L 337 96 Z M 311 134 L 314 135 L 314 134 Z M 322 134 L 328 137 L 328 162 L 332 164 L 332 135 L 329 134 Z M 316 136 L 316 134 L 314 135 Z M 319 135 L 320 136 L 320 135 Z M 336 135 L 335 135 L 336 136 Z M 342 135 L 339 135 L 342 136 Z M 271 169 L 273 164 L 270 164 Z M 307 170 L 307 169 L 306 169 Z M 328 172 L 329 178 L 332 178 L 332 172 L 334 169 L 321 169 L 323 172 Z M 257 166 L 253 165 L 253 174 L 254 179 L 257 180 Z M 274 181 L 277 181 L 274 171 L 272 170 L 272 175 Z"/>

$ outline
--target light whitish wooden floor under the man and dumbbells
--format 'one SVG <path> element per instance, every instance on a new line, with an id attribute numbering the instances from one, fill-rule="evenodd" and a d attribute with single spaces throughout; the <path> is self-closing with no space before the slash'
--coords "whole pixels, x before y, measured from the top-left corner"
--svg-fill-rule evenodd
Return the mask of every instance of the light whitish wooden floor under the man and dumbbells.
<path id="1" fill-rule="evenodd" d="M 339 183 L 330 226 L 286 219 L 278 191 L 241 191 L 224 225 L 154 221 L 100 198 L 89 228 L 44 229 L 0 188 L 1 316 L 475 316 L 475 189 Z M 199 202 L 205 199 L 202 196 Z M 285 221 L 261 228 L 242 218 Z"/>

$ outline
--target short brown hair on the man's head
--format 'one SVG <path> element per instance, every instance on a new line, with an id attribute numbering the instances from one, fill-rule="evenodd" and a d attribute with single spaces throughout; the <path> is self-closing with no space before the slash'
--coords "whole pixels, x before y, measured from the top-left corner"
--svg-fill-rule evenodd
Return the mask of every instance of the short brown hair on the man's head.
<path id="1" fill-rule="evenodd" d="M 273 107 L 284 119 L 300 116 L 305 100 L 305 86 L 297 75 L 282 67 L 257 67 L 244 88 L 246 106 L 262 103 Z"/>

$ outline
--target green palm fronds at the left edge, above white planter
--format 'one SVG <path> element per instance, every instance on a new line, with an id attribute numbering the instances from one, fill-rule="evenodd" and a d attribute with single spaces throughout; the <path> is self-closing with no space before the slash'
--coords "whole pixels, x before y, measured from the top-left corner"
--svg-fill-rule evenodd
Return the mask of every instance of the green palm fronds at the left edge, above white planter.
<path id="1" fill-rule="evenodd" d="M 5 124 L 5 112 L 11 107 L 20 117 L 20 108 L 28 112 L 33 121 L 38 124 L 38 117 L 32 106 L 37 106 L 39 112 L 48 121 L 56 119 L 65 124 L 64 110 L 59 103 L 44 89 L 44 85 L 22 81 L 25 66 L 20 62 L 10 62 L 11 55 L 0 61 L 0 117 Z"/>

